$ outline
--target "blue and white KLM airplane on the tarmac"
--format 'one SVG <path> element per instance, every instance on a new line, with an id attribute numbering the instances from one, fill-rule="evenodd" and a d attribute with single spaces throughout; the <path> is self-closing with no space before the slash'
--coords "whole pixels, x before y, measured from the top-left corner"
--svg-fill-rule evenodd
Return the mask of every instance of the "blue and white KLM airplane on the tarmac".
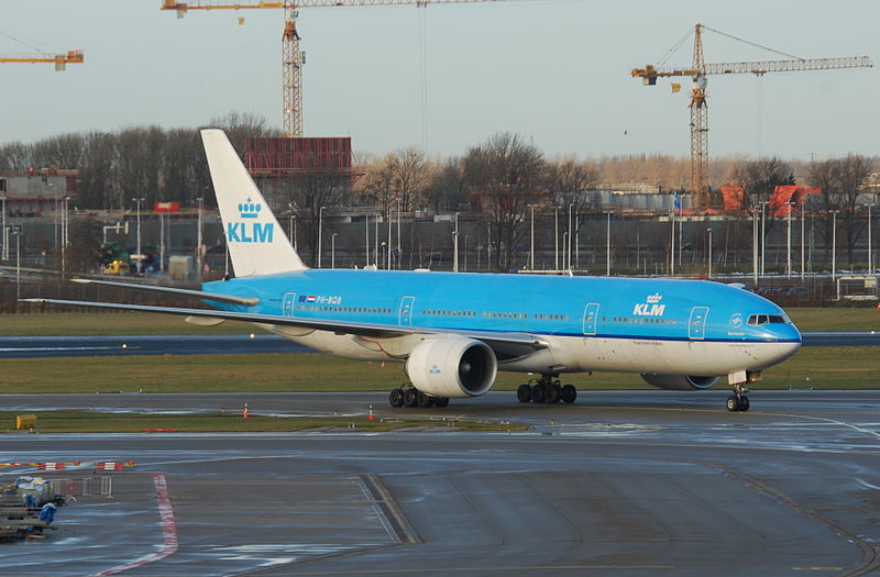
<path id="1" fill-rule="evenodd" d="M 204 326 L 248 321 L 331 355 L 403 363 L 411 385 L 389 392 L 393 407 L 479 397 L 499 370 L 540 375 L 518 387 L 520 402 L 571 403 L 578 390 L 560 377 L 606 370 L 672 390 L 726 377 L 727 410 L 747 411 L 748 385 L 801 346 L 777 304 L 714 281 L 309 268 L 226 134 L 201 137 L 235 276 L 201 290 L 76 280 L 197 297 L 211 309 L 25 300 Z"/>

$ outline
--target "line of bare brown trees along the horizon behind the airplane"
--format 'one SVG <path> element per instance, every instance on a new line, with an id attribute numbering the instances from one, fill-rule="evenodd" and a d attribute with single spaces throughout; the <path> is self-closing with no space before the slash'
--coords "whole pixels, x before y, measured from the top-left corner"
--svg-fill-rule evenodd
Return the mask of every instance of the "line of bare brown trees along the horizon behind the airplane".
<path id="1" fill-rule="evenodd" d="M 232 112 L 211 120 L 227 131 L 243 154 L 248 137 L 279 136 L 265 119 Z M 315 254 L 321 211 L 341 207 L 371 207 L 384 214 L 394 211 L 468 212 L 480 214 L 491 235 L 494 267 L 510 268 L 514 253 L 529 230 L 529 215 L 550 207 L 582 214 L 597 210 L 595 190 L 605 184 L 649 184 L 662 191 L 684 192 L 690 181 L 690 159 L 663 155 L 579 158 L 548 157 L 530 140 L 497 133 L 468 147 L 461 156 L 429 157 L 410 146 L 384 155 L 359 153 L 359 177 L 296 176 L 273 184 L 267 195 L 279 215 L 296 217 L 300 238 Z M 777 185 L 800 184 L 822 189 L 814 201 L 822 217 L 820 232 L 833 234 L 831 217 L 837 214 L 842 244 L 850 254 L 865 229 L 858 210 L 877 158 L 848 155 L 803 163 L 779 158 L 713 159 L 713 188 L 725 184 L 743 187 L 744 203 L 737 226 L 750 230 L 748 209 L 766 202 Z M 147 206 L 177 201 L 195 207 L 198 198 L 213 204 L 213 191 L 198 129 L 128 127 L 116 132 L 73 133 L 33 144 L 0 146 L 0 170 L 28 167 L 79 170 L 77 206 L 80 209 L 131 210 L 133 198 Z M 716 200 L 719 200 L 716 199 Z M 560 223 L 562 233 L 576 235 L 583 220 Z M 772 221 L 771 221 L 772 224 Z M 569 230 L 571 226 L 571 230 Z M 766 231 L 769 233 L 769 230 Z M 743 243 L 750 242 L 750 233 Z"/>

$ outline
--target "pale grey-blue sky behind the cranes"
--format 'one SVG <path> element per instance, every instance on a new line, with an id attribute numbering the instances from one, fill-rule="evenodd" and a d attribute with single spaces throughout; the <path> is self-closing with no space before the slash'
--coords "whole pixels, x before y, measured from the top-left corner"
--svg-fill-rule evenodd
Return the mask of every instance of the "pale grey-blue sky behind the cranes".
<path id="1" fill-rule="evenodd" d="M 161 3 L 2 0 L 3 34 L 51 53 L 82 48 L 86 63 L 64 73 L 0 65 L 0 142 L 198 126 L 233 110 L 280 129 L 283 11 L 178 20 Z M 673 95 L 670 80 L 644 87 L 629 70 L 658 62 L 696 22 L 799 57 L 880 63 L 878 0 L 304 8 L 305 135 L 350 135 L 355 149 L 377 154 L 427 144 L 448 156 L 510 131 L 551 156 L 686 156 L 690 80 Z M 688 65 L 692 51 L 689 40 L 668 64 Z M 32 51 L 0 36 L 0 52 Z M 704 53 L 707 63 L 780 57 L 712 32 Z M 879 155 L 880 67 L 710 77 L 710 127 L 714 156 Z"/>

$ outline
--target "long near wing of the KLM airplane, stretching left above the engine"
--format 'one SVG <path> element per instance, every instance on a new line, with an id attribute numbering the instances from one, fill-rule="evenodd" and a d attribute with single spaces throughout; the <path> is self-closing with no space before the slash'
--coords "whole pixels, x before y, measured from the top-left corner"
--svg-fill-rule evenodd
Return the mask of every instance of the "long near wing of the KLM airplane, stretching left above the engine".
<path id="1" fill-rule="evenodd" d="M 152 312 L 162 314 L 176 314 L 201 319 L 223 319 L 227 321 L 243 321 L 261 324 L 276 324 L 283 326 L 298 326 L 315 329 L 316 331 L 332 331 L 337 334 L 352 334 L 377 339 L 404 336 L 408 334 L 425 335 L 460 335 L 482 341 L 496 353 L 505 356 L 520 356 L 530 352 L 547 348 L 548 344 L 528 333 L 505 333 L 493 331 L 475 331 L 459 329 L 435 329 L 425 326 L 399 326 L 395 324 L 362 323 L 326 321 L 321 319 L 301 319 L 296 317 L 282 317 L 278 314 L 258 314 L 251 312 L 218 311 L 211 309 L 188 309 L 182 307 L 154 307 L 150 304 L 125 304 L 121 302 L 94 302 L 62 299 L 22 299 L 23 302 L 37 302 L 61 304 L 64 307 L 90 307 L 96 309 L 112 309 L 135 312 Z"/>

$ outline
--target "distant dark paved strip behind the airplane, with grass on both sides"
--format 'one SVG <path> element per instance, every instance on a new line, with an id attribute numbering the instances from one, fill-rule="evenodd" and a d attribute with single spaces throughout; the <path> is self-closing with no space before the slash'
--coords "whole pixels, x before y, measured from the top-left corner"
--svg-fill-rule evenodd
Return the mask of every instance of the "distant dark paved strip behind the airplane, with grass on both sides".
<path id="1" fill-rule="evenodd" d="M 803 346 L 878 346 L 880 333 L 804 333 Z M 308 353 L 274 334 L 0 336 L 0 358 Z"/>

